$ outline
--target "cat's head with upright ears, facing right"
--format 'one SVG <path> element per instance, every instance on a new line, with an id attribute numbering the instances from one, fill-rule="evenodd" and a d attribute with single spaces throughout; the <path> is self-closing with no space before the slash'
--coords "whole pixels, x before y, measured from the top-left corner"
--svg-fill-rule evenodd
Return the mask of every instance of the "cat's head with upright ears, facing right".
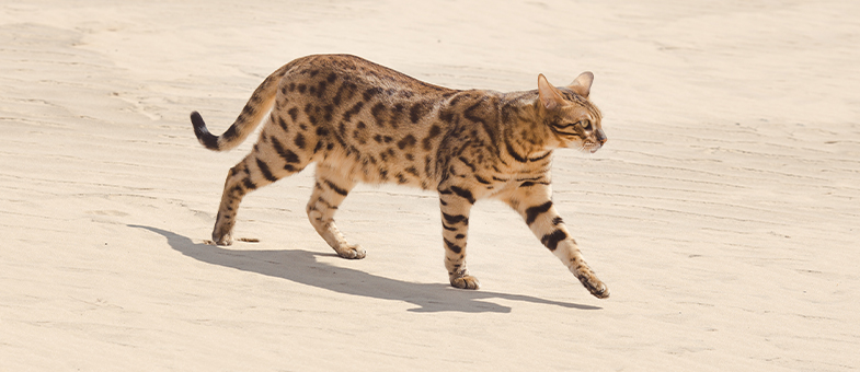
<path id="1" fill-rule="evenodd" d="M 606 143 L 600 111 L 588 101 L 594 74 L 581 73 L 570 85 L 555 88 L 538 75 L 539 109 L 560 148 L 594 153 Z"/>

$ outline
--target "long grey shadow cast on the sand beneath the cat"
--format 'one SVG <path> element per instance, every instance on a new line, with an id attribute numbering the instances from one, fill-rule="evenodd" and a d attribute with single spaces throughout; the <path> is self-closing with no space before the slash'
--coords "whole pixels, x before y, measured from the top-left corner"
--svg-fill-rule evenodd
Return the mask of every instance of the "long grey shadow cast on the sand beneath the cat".
<path id="1" fill-rule="evenodd" d="M 319 261 L 318 256 L 335 256 L 302 249 L 246 251 L 229 249 L 204 243 L 195 243 L 186 236 L 152 226 L 128 225 L 145 229 L 164 236 L 171 248 L 203 263 L 234 268 L 287 279 L 297 283 L 318 287 L 330 291 L 362 295 L 372 299 L 405 301 L 417 305 L 413 312 L 466 312 L 509 313 L 511 307 L 488 299 L 524 301 L 576 310 L 601 307 L 539 299 L 530 295 L 496 293 L 488 291 L 457 290 L 447 283 L 416 283 L 389 279 L 360 270 L 332 266 Z"/>

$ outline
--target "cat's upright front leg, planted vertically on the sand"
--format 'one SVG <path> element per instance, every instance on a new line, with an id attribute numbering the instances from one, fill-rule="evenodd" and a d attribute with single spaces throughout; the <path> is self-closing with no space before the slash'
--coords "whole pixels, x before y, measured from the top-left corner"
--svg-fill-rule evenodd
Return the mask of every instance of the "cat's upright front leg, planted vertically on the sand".
<path id="1" fill-rule="evenodd" d="M 445 243 L 445 268 L 451 286 L 462 289 L 481 287 L 478 278 L 466 268 L 466 240 L 469 233 L 469 211 L 474 204 L 471 191 L 454 185 L 439 186 L 442 236 Z"/>

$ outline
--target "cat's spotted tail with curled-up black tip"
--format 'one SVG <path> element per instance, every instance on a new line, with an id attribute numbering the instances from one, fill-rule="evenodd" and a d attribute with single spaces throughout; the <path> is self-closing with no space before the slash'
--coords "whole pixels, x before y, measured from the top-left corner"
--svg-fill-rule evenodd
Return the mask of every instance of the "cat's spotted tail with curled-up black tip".
<path id="1" fill-rule="evenodd" d="M 221 136 L 215 136 L 209 132 L 199 113 L 191 113 L 191 123 L 194 125 L 194 135 L 197 136 L 197 140 L 213 151 L 227 151 L 242 143 L 272 109 L 275 95 L 277 94 L 278 82 L 290 67 L 291 63 L 287 63 L 270 74 L 256 88 L 251 98 L 248 100 L 244 108 L 242 108 L 242 113 L 236 118 L 233 125 L 227 128 Z"/>

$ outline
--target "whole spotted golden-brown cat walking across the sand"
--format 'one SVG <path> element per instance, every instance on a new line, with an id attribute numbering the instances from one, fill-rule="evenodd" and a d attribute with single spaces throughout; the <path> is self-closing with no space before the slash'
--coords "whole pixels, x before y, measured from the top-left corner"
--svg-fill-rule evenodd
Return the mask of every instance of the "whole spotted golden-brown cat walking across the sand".
<path id="1" fill-rule="evenodd" d="M 606 142 L 601 114 L 588 100 L 593 79 L 583 72 L 555 88 L 540 74 L 532 91 L 460 91 L 355 56 L 296 59 L 260 84 L 223 135 L 191 114 L 197 139 L 215 151 L 237 147 L 265 118 L 253 151 L 227 175 L 214 243 L 231 244 L 245 194 L 316 162 L 308 218 L 341 257 L 365 257 L 334 224 L 349 190 L 359 182 L 412 185 L 439 193 L 451 286 L 479 287 L 466 267 L 469 211 L 475 200 L 495 198 L 519 212 L 592 294 L 607 298 L 550 199 L 552 151 L 595 152 Z"/>

